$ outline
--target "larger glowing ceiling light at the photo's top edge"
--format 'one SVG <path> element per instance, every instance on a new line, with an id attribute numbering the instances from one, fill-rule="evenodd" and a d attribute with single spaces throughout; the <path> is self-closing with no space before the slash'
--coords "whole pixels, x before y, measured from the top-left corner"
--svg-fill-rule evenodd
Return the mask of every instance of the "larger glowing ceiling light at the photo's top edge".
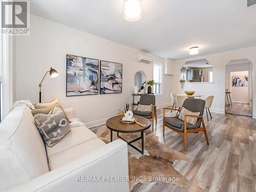
<path id="1" fill-rule="evenodd" d="M 123 2 L 123 18 L 129 22 L 137 22 L 143 16 L 141 0 L 125 0 Z"/>

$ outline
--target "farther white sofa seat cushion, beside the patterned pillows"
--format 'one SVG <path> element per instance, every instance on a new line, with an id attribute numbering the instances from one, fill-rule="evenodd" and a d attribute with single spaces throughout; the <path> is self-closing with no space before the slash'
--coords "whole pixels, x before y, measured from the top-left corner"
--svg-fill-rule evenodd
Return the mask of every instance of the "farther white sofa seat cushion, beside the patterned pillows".
<path id="1" fill-rule="evenodd" d="M 97 136 L 90 131 L 85 125 L 71 128 L 71 131 L 60 140 L 54 147 L 46 146 L 47 157 L 68 150 L 81 143 L 87 142 L 91 139 L 95 139 Z"/>

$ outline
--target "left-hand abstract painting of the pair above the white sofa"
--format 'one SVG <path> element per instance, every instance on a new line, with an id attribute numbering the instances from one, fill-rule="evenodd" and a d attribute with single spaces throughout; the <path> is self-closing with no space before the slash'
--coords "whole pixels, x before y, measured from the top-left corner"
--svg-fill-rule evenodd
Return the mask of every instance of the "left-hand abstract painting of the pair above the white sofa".
<path id="1" fill-rule="evenodd" d="M 67 55 L 67 96 L 97 95 L 99 60 Z"/>

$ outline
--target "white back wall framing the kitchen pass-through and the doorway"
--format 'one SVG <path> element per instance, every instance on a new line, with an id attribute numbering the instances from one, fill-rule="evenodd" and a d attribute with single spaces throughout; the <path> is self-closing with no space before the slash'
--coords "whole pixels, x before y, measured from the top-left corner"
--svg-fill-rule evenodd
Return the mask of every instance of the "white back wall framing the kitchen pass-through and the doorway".
<path id="1" fill-rule="evenodd" d="M 213 80 L 215 83 L 185 83 L 184 90 L 196 91 L 204 95 L 204 98 L 208 95 L 214 95 L 214 101 L 212 103 L 212 111 L 224 113 L 225 112 L 225 66 L 230 60 L 238 60 L 247 58 L 251 61 L 252 65 L 256 64 L 256 47 L 234 50 L 229 52 L 192 57 L 187 59 L 181 59 L 175 61 L 175 76 L 172 77 L 171 91 L 176 93 L 184 93 L 180 88 L 180 69 L 186 61 L 196 59 L 207 59 L 211 63 L 213 71 Z M 256 68 L 254 67 L 253 73 L 256 74 Z M 253 96 L 256 96 L 256 78 L 253 82 Z M 256 99 L 253 101 L 253 118 L 256 118 Z"/>

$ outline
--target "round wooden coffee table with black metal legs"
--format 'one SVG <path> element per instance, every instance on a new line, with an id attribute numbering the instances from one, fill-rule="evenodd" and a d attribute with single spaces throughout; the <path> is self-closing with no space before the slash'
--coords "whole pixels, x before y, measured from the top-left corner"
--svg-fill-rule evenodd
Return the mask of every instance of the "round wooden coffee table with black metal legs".
<path id="1" fill-rule="evenodd" d="M 117 137 L 119 137 L 120 139 L 125 141 L 127 144 L 129 144 L 131 147 L 133 147 L 135 150 L 137 150 L 138 152 L 140 152 L 143 155 L 143 153 L 144 153 L 144 131 L 150 127 L 151 122 L 150 122 L 150 120 L 148 120 L 144 117 L 140 117 L 140 116 L 136 116 L 136 115 L 134 117 L 138 120 L 139 123 L 145 124 L 146 126 L 143 127 L 135 122 L 129 123 L 129 124 L 122 123 L 119 120 L 121 118 L 123 118 L 123 115 L 119 115 L 119 116 L 115 116 L 115 117 L 108 119 L 106 121 L 106 127 L 108 127 L 110 129 L 110 132 L 111 132 L 110 140 L 111 141 L 113 141 L 113 131 L 117 132 Z M 141 133 L 141 136 L 132 141 L 126 141 L 121 136 L 119 136 L 119 133 L 139 133 L 139 132 Z M 138 141 L 139 139 L 141 139 L 141 150 L 132 144 L 133 142 Z"/>

